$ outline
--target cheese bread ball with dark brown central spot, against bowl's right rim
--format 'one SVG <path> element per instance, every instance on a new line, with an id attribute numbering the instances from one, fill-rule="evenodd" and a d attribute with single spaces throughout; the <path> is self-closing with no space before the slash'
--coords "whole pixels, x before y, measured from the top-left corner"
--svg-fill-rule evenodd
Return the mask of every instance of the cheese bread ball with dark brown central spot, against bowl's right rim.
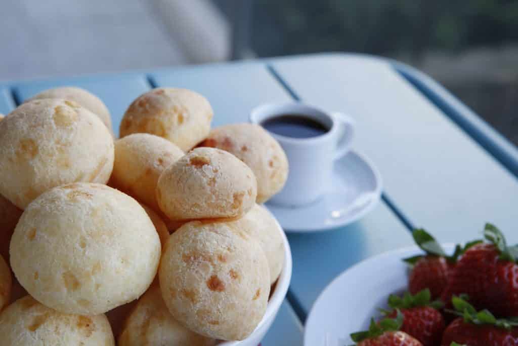
<path id="1" fill-rule="evenodd" d="M 261 245 L 229 222 L 193 221 L 172 233 L 159 279 L 176 320 L 221 340 L 247 338 L 263 318 L 270 293 Z"/>

